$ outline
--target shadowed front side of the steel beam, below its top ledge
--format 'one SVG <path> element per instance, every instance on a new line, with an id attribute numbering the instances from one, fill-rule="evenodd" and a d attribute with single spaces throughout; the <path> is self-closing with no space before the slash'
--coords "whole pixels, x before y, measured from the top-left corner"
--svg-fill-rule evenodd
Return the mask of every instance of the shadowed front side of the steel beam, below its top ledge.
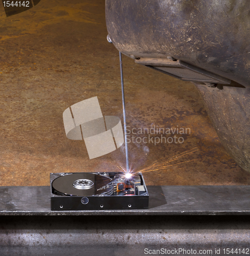
<path id="1" fill-rule="evenodd" d="M 212 249 L 214 255 L 215 248 L 249 248 L 250 235 L 248 217 L 226 216 L 6 216 L 0 224 L 1 256 L 140 256 L 145 248 Z"/>

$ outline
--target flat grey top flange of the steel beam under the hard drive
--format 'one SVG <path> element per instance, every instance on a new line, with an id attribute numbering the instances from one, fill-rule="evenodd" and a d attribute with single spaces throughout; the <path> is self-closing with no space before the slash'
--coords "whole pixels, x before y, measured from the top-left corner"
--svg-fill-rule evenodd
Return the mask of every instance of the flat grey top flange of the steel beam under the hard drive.
<path id="1" fill-rule="evenodd" d="M 0 187 L 0 215 L 249 215 L 250 186 L 147 186 L 143 210 L 52 211 L 49 186 Z"/>

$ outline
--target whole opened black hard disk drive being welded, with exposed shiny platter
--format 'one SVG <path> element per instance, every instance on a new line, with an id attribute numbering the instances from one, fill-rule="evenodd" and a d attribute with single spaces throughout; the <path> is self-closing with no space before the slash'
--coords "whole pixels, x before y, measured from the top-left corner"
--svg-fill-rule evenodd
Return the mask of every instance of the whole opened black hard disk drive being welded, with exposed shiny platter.
<path id="1" fill-rule="evenodd" d="M 52 210 L 147 209 L 148 192 L 141 173 L 51 174 Z"/>

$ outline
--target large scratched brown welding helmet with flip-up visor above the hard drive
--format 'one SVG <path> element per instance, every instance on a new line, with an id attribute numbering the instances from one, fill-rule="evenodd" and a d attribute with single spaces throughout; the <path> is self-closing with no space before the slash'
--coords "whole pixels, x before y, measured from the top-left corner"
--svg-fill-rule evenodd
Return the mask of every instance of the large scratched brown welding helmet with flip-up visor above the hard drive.
<path id="1" fill-rule="evenodd" d="M 250 172 L 250 2 L 106 0 L 106 24 L 114 46 L 137 63 L 176 77 L 166 61 L 199 69 L 178 78 L 195 83 L 224 147 Z"/>

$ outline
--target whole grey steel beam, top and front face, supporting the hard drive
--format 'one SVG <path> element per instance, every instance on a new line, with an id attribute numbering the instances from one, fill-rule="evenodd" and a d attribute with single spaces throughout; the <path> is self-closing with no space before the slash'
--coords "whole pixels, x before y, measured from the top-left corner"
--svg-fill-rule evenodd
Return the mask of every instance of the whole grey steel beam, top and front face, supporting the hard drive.
<path id="1" fill-rule="evenodd" d="M 250 186 L 147 188 L 147 210 L 51 211 L 49 186 L 0 187 L 0 254 L 140 256 L 163 249 L 225 255 L 226 248 L 250 249 Z"/>

